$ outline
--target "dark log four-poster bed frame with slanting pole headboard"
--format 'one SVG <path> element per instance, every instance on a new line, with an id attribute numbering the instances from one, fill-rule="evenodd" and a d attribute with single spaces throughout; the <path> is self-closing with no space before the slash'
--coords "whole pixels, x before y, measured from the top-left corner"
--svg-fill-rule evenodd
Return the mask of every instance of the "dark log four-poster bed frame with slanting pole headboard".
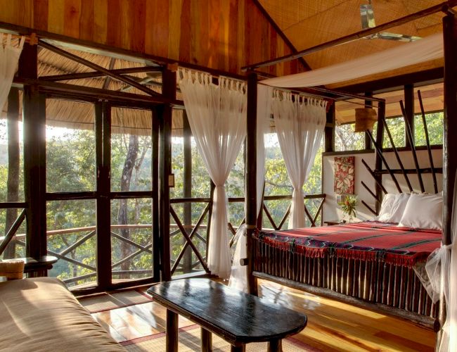
<path id="1" fill-rule="evenodd" d="M 455 122 L 455 116 L 457 115 L 457 99 L 456 99 L 456 94 L 457 94 L 457 82 L 455 80 L 455 77 L 457 77 L 457 49 L 455 46 L 455 43 L 457 42 L 457 20 L 455 18 L 455 12 L 451 9 L 452 6 L 455 6 L 456 1 L 448 1 L 443 4 L 439 4 L 437 6 L 433 6 L 432 8 L 429 8 L 424 11 L 420 11 L 420 13 L 408 15 L 404 18 L 400 18 L 399 20 L 394 20 L 391 21 L 390 23 L 386 23 L 383 25 L 382 30 L 385 30 L 390 27 L 394 27 L 395 25 L 399 25 L 400 23 L 406 23 L 410 20 L 415 20 L 417 18 L 421 18 L 425 15 L 430 15 L 431 13 L 437 13 L 439 11 L 443 11 L 446 13 L 446 15 L 443 18 L 443 36 L 444 36 L 444 144 L 443 144 L 443 196 L 444 196 L 444 208 L 443 208 L 443 229 L 442 229 L 442 244 L 450 244 L 451 243 L 451 210 L 453 207 L 453 191 L 454 191 L 454 177 L 456 175 L 456 170 L 457 170 L 457 154 L 451 152 L 451 150 L 456 151 L 457 150 L 457 138 L 453 134 L 457 134 L 457 125 Z M 380 26 L 377 27 L 374 31 L 378 32 L 380 29 Z M 330 46 L 334 46 L 337 44 L 343 44 L 346 42 L 349 42 L 354 39 L 359 39 L 361 37 L 364 37 L 370 33 L 368 33 L 370 30 L 364 30 L 361 32 L 358 32 L 356 34 L 350 34 L 348 36 L 342 37 L 340 39 L 335 39 L 331 42 L 324 43 L 324 44 L 319 44 L 318 46 L 314 46 L 313 48 L 310 49 L 305 49 L 304 51 L 299 51 L 297 54 L 290 54 L 288 56 L 283 56 L 282 58 L 277 58 L 273 59 L 270 61 L 264 61 L 262 63 L 257 63 L 253 65 L 246 66 L 245 69 L 247 70 L 252 70 L 255 68 L 262 68 L 264 66 L 268 65 L 273 65 L 276 63 L 281 63 L 284 61 L 290 61 L 292 59 L 302 57 L 306 54 L 310 54 L 312 52 L 328 48 Z M 255 116 L 256 115 L 256 104 L 257 104 L 257 73 L 250 71 L 248 73 L 248 84 L 247 84 L 247 111 L 248 111 L 248 116 Z M 410 87 L 410 91 L 413 91 L 412 87 Z M 408 102 L 411 101 L 411 99 L 408 99 Z M 422 104 L 421 104 L 422 105 Z M 421 106 L 421 108 L 423 108 Z M 407 109 L 407 111 L 406 111 Z M 416 173 L 418 174 L 418 178 L 420 181 L 420 189 L 421 191 L 424 191 L 424 186 L 421 178 L 421 172 L 424 172 L 425 170 L 420 170 L 418 167 L 418 161 L 417 161 L 417 156 L 416 156 L 416 151 L 414 147 L 414 142 L 411 136 L 411 125 L 412 125 L 412 120 L 413 120 L 413 109 L 411 108 L 411 103 L 408 103 L 408 106 L 404 108 L 402 106 L 402 111 L 404 113 L 404 116 L 406 117 L 406 134 L 408 137 L 408 142 L 407 146 L 411 148 L 411 151 L 413 153 L 413 160 L 415 163 L 416 167 Z M 380 146 L 382 146 L 382 138 L 384 134 L 384 130 L 386 130 L 388 136 L 390 139 L 392 139 L 392 136 L 390 136 L 390 132 L 388 132 L 388 127 L 385 128 L 385 104 L 380 103 L 379 104 L 379 111 L 378 111 L 378 130 L 377 130 L 377 138 L 376 141 L 378 142 L 378 145 L 375 144 L 375 171 L 371 170 L 366 163 L 366 168 L 368 168 L 368 171 L 375 177 L 375 192 L 370 193 L 373 195 L 373 197 L 376 200 L 376 209 L 371 211 L 373 213 L 378 213 L 380 209 L 380 201 L 382 200 L 382 192 L 385 191 L 382 187 L 382 173 L 383 172 L 388 172 L 394 179 L 394 183 L 397 186 L 397 189 L 399 189 L 399 185 L 395 180 L 394 174 L 392 170 L 388 167 L 387 163 L 383 160 L 382 157 L 382 151 Z M 409 122 L 409 123 L 408 123 Z M 330 260 L 328 258 L 328 272 L 327 275 L 329 277 L 328 282 L 326 285 L 323 285 L 323 277 L 319 277 L 318 272 L 321 270 L 319 267 L 323 265 L 323 263 L 320 261 L 321 259 L 316 259 L 314 260 L 315 263 L 309 263 L 312 262 L 312 259 L 307 259 L 309 260 L 307 268 L 308 272 L 306 277 L 302 276 L 299 277 L 300 275 L 297 274 L 297 270 L 290 269 L 288 268 L 288 263 L 290 263 L 290 253 L 268 253 L 268 255 L 276 255 L 278 258 L 280 258 L 280 261 L 276 263 L 276 266 L 273 265 L 273 263 L 262 263 L 261 260 L 256 261 L 256 251 L 265 251 L 266 249 L 259 249 L 257 248 L 257 242 L 255 242 L 255 239 L 253 239 L 253 234 L 255 233 L 256 230 L 256 224 L 257 224 L 257 213 L 256 213 L 256 199 L 255 199 L 255 194 L 256 194 L 256 184 L 255 184 L 255 175 L 256 175 L 256 121 L 255 119 L 248 119 L 247 120 L 247 158 L 246 158 L 246 165 L 247 165 L 247 172 L 246 172 L 246 191 L 247 191 L 247 197 L 246 197 L 246 223 L 247 223 L 247 265 L 248 265 L 248 289 L 252 294 L 257 293 L 257 282 L 256 279 L 257 277 L 262 277 L 266 279 L 272 279 L 273 281 L 279 282 L 281 284 L 288 285 L 290 287 L 296 287 L 298 289 L 305 289 L 307 291 L 314 291 L 315 293 L 318 294 L 329 294 L 331 290 L 336 291 L 337 294 L 332 294 L 333 297 L 340 298 L 345 301 L 349 301 L 352 303 L 356 304 L 364 304 L 365 306 L 371 306 L 373 309 L 381 309 L 385 311 L 385 313 L 396 313 L 392 312 L 392 309 L 388 306 L 384 306 L 383 303 L 387 303 L 392 306 L 392 303 L 394 303 L 394 306 L 397 305 L 399 308 L 402 308 L 405 312 L 406 310 L 414 310 L 417 313 L 420 314 L 426 314 L 426 315 L 431 315 L 432 317 L 438 316 L 439 318 L 439 323 L 435 325 L 435 329 L 439 329 L 439 325 L 442 325 L 442 322 L 444 321 L 444 299 L 440 300 L 439 303 L 439 309 L 435 306 L 431 305 L 430 298 L 425 294 L 425 290 L 423 289 L 422 285 L 419 284 L 418 279 L 416 279 L 416 275 L 413 273 L 413 270 L 410 269 L 410 271 L 405 272 L 404 270 L 399 270 L 397 267 L 390 267 L 385 268 L 385 265 L 383 265 L 384 270 L 382 271 L 382 268 L 375 268 L 375 265 L 369 265 L 368 270 L 365 270 L 366 268 L 362 268 L 365 266 L 364 263 L 359 263 L 359 272 L 362 274 L 358 275 L 356 279 L 361 279 L 359 282 L 359 287 L 356 289 L 352 287 L 349 289 L 349 287 L 344 287 L 344 285 L 338 284 L 337 280 L 334 280 L 335 276 L 337 275 L 338 270 L 340 270 L 340 273 L 342 272 L 343 268 L 345 268 L 345 265 L 349 265 L 349 263 L 345 263 L 343 260 L 340 260 L 338 262 L 337 258 L 334 258 L 333 260 Z M 326 133 L 326 136 L 328 136 L 329 132 Z M 374 142 L 373 136 L 371 134 L 368 134 L 368 138 L 371 140 L 370 142 Z M 392 141 L 391 141 L 392 142 Z M 428 153 L 429 157 L 431 157 L 430 153 L 430 143 L 427 143 L 428 147 Z M 398 153 L 394 147 L 394 153 L 397 156 L 397 161 L 398 161 Z M 430 163 L 431 163 L 431 168 L 430 172 L 432 172 L 433 175 L 433 182 L 434 182 L 434 188 L 437 190 L 436 186 L 436 176 L 435 173 L 438 171 L 434 168 L 432 159 L 430 158 Z M 385 170 L 382 170 L 382 166 L 386 165 Z M 406 176 L 406 170 L 404 170 L 403 165 L 401 164 L 401 172 L 404 173 L 407 183 L 408 183 L 408 188 L 411 190 L 411 184 L 408 181 L 408 178 Z M 381 171 L 382 170 L 382 171 Z M 365 185 L 366 187 L 366 185 Z M 400 189 L 399 189 L 400 190 Z M 284 251 L 283 251 L 284 252 Z M 311 264 L 311 265 L 309 265 Z M 313 265 L 314 264 L 314 265 Z M 301 264 L 300 264 L 301 265 Z M 312 270 L 310 269 L 312 268 Z M 355 268 L 355 267 L 353 267 Z M 264 270 L 264 272 L 259 272 L 259 270 Z M 282 271 L 281 271 L 282 270 Z M 267 274 L 265 273 L 268 272 Z M 299 270 L 300 271 L 300 270 Z M 410 282 L 410 279 L 407 280 L 406 282 L 406 287 L 402 287 L 403 282 L 401 282 L 400 287 L 401 290 L 409 291 L 410 293 L 415 290 L 419 290 L 418 296 L 421 297 L 422 301 L 416 301 L 413 302 L 411 301 L 408 296 L 406 297 L 406 300 L 399 299 L 398 297 L 391 297 L 388 298 L 387 296 L 383 296 L 382 294 L 375 294 L 375 291 L 373 290 L 372 284 L 373 284 L 373 276 L 370 275 L 368 276 L 367 280 L 367 275 L 368 271 L 373 274 L 373 272 L 382 272 L 381 278 L 385 277 L 385 273 L 387 272 L 388 275 L 387 277 L 390 277 L 389 280 L 393 280 L 390 282 L 394 282 L 397 284 L 397 278 L 399 277 L 408 277 L 411 279 L 412 284 L 408 284 Z M 394 273 L 394 277 L 392 277 L 392 273 Z M 282 275 L 281 275 L 282 274 Z M 347 275 L 347 273 L 346 273 Z M 354 275 L 355 277 L 355 275 Z M 298 278 L 298 279 L 297 279 Z M 300 282 L 300 278 L 302 279 L 302 282 Z M 378 279 L 380 277 L 378 276 Z M 320 282 L 319 282 L 320 280 Z M 384 284 L 384 282 L 383 282 Z M 409 286 L 408 286 L 409 285 Z M 325 288 L 316 288 L 317 287 L 325 287 Z M 371 288 L 371 289 L 368 289 Z M 349 293 L 349 291 L 352 291 Z M 353 296 L 359 298 L 352 298 L 350 296 L 346 296 L 346 294 L 352 294 Z M 413 297 L 413 296 L 411 296 Z M 366 301 L 375 301 L 375 304 L 368 304 Z M 379 298 L 379 301 L 376 301 L 376 298 Z M 381 303 L 381 305 L 379 303 Z M 406 309 L 406 310 L 405 310 Z M 401 314 L 401 311 L 399 310 L 397 313 L 398 315 L 406 315 L 408 317 L 411 317 L 407 312 L 406 314 Z M 423 319 L 419 318 L 419 322 L 426 322 Z"/>

